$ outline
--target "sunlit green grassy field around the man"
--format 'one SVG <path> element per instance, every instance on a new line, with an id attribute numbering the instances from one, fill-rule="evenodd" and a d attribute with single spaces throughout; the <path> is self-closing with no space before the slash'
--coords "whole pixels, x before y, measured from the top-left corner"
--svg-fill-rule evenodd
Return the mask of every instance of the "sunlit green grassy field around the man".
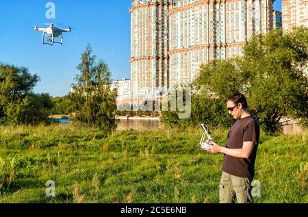
<path id="1" fill-rule="evenodd" d="M 0 203 L 218 203 L 222 155 L 198 149 L 201 133 L 0 127 Z M 227 131 L 213 134 L 225 144 Z M 261 135 L 256 203 L 308 203 L 307 141 Z"/>

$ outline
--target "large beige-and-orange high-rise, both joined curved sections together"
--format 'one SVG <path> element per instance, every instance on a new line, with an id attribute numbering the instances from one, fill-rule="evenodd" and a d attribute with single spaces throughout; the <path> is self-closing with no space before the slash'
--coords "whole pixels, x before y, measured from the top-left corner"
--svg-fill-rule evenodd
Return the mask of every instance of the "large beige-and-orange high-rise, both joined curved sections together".
<path id="1" fill-rule="evenodd" d="M 209 60 L 242 55 L 253 34 L 273 29 L 273 1 L 133 0 L 133 100 L 190 84 Z"/>

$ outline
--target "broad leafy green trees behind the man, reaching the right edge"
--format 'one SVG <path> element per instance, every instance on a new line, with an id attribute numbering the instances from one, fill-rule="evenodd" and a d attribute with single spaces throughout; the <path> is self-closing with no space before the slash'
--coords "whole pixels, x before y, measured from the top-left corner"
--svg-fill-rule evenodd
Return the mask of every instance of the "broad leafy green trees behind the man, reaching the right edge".
<path id="1" fill-rule="evenodd" d="M 308 29 L 253 36 L 244 56 L 214 60 L 201 68 L 196 83 L 222 99 L 232 92 L 248 98 L 251 112 L 265 131 L 280 129 L 283 117 L 308 117 Z"/>

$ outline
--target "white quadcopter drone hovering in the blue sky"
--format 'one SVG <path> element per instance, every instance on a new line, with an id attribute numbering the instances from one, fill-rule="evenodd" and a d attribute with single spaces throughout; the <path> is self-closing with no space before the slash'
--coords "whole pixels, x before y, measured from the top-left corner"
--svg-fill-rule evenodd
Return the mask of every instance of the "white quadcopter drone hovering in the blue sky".
<path id="1" fill-rule="evenodd" d="M 47 28 L 38 28 L 38 26 L 34 26 L 34 30 L 36 31 L 42 31 L 42 44 L 49 44 L 53 46 L 54 43 L 57 44 L 63 44 L 63 33 L 72 31 L 70 27 L 66 28 L 60 28 L 60 27 L 55 27 L 56 25 L 59 25 L 58 23 L 43 23 L 44 25 L 49 25 Z M 49 37 L 47 42 L 45 42 L 44 37 L 47 36 Z M 55 41 L 55 38 L 61 36 L 61 40 Z"/>

